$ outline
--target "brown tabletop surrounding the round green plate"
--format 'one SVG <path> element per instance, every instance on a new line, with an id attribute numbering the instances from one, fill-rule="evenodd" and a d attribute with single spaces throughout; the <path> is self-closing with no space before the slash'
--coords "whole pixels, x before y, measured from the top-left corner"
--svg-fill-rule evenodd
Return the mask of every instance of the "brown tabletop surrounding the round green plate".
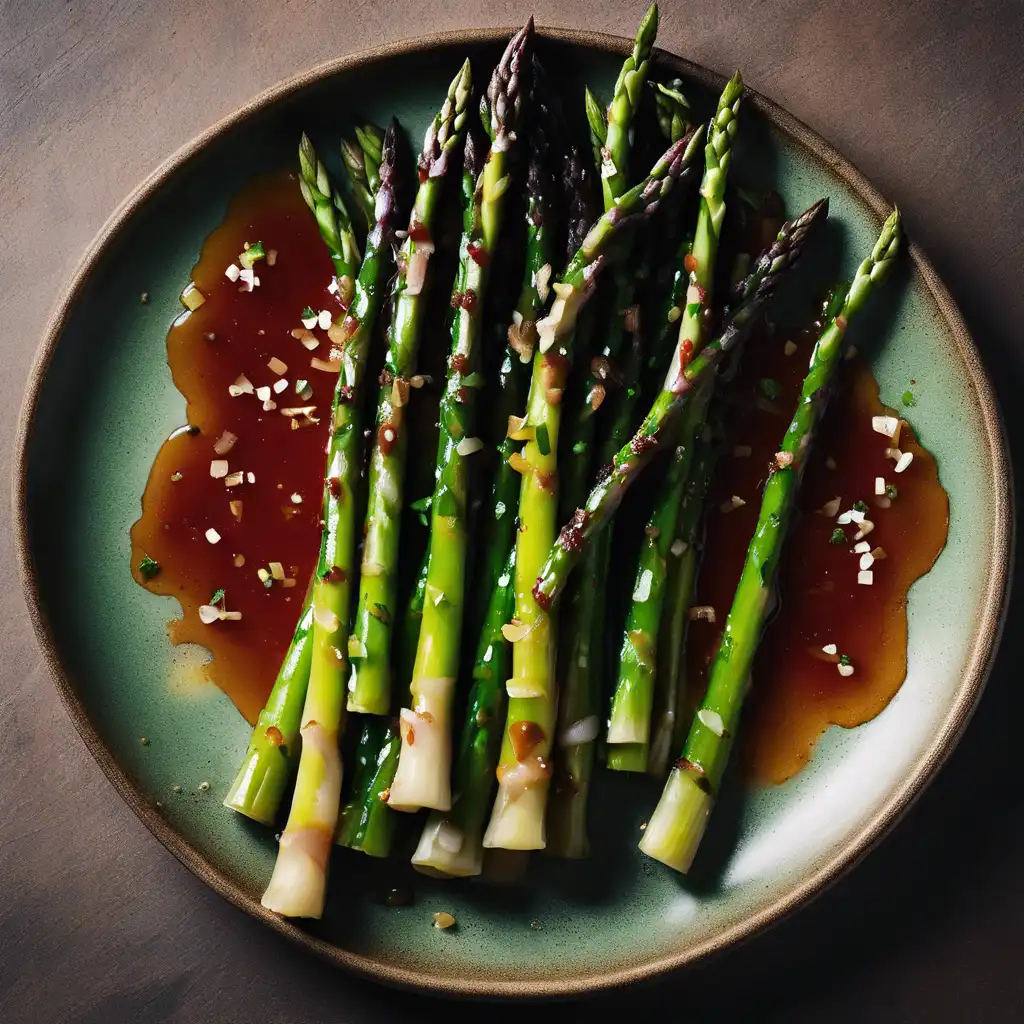
<path id="1" fill-rule="evenodd" d="M 337 53 L 512 25 L 508 0 L 0 3 L 2 470 L 43 325 L 106 216 L 253 93 Z M 642 4 L 538 0 L 629 35 Z M 666 0 L 660 42 L 806 121 L 903 209 L 1024 441 L 1020 0 Z M 354 982 L 231 908 L 122 804 L 65 715 L 0 522 L 0 1020 L 518 1020 Z M 952 599 L 955 599 L 952 596 Z M 894 834 L 744 947 L 584 1012 L 699 1021 L 1024 1020 L 1024 591 L 985 697 Z M 551 1011 L 564 1014 L 567 1008 Z M 542 1016 L 541 1008 L 525 1011 Z"/>

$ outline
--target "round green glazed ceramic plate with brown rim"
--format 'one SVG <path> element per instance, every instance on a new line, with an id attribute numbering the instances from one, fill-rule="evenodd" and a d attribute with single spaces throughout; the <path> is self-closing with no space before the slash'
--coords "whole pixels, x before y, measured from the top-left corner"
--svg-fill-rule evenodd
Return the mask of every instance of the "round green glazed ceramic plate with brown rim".
<path id="1" fill-rule="evenodd" d="M 1006 608 L 1013 508 L 992 388 L 948 293 L 911 245 L 865 328 L 884 342 L 872 349 L 883 400 L 897 404 L 905 382 L 918 382 L 912 421 L 938 460 L 950 520 L 945 550 L 910 592 L 909 667 L 891 705 L 857 729 L 830 729 L 784 785 L 723 806 L 703 866 L 689 878 L 636 848 L 659 787 L 604 772 L 590 861 L 535 856 L 524 886 L 417 877 L 412 905 L 388 906 L 379 894 L 408 885 L 407 866 L 339 851 L 324 921 L 293 924 L 264 910 L 274 837 L 220 803 L 249 726 L 219 690 L 188 685 L 196 652 L 172 648 L 166 633 L 176 603 L 129 573 L 128 530 L 150 467 L 185 420 L 167 331 L 231 197 L 254 175 L 291 167 L 301 130 L 332 156 L 355 114 L 383 124 L 394 113 L 422 137 L 461 60 L 469 55 L 489 71 L 508 35 L 433 36 L 324 65 L 257 97 L 140 185 L 86 255 L 43 339 L 23 410 L 14 516 L 28 603 L 69 714 L 121 796 L 179 860 L 267 927 L 366 977 L 449 993 L 551 996 L 622 985 L 721 950 L 866 853 L 935 774 L 981 693 Z M 632 45 L 587 33 L 541 36 L 546 63 L 577 95 L 585 80 L 610 94 Z M 713 109 L 722 78 L 666 53 L 656 63 Z M 751 93 L 743 117 L 745 152 L 735 160 L 743 183 L 778 189 L 788 210 L 829 196 L 841 253 L 833 269 L 851 275 L 891 205 L 769 100 Z M 458 927 L 433 928 L 439 910 Z"/>

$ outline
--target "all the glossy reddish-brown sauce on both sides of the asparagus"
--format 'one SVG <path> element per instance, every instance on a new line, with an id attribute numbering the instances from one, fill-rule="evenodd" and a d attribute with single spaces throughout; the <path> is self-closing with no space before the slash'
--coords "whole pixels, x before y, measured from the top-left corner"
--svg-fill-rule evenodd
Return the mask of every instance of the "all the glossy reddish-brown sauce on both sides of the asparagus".
<path id="1" fill-rule="evenodd" d="M 273 266 L 256 263 L 260 286 L 240 292 L 224 276 L 246 242 L 261 241 L 276 252 Z M 187 401 L 190 429 L 176 432 L 161 447 L 142 499 L 142 516 L 132 527 L 132 567 L 151 591 L 175 597 L 182 617 L 169 626 L 175 643 L 207 647 L 213 659 L 204 671 L 250 721 L 263 707 L 288 647 L 312 571 L 319 539 L 319 506 L 328 411 L 335 375 L 310 366 L 326 359 L 330 343 L 318 328 L 315 351 L 293 336 L 305 306 L 336 310 L 328 290 L 333 267 L 291 175 L 281 174 L 244 190 L 224 223 L 203 247 L 193 280 L 206 296 L 196 312 L 168 335 L 174 383 Z M 739 398 L 760 394 L 759 381 L 771 376 L 781 392 L 772 403 L 744 401 L 730 417 L 732 445 L 750 455 L 721 460 L 712 488 L 706 568 L 696 602 L 716 609 L 717 623 L 694 622 L 690 629 L 691 694 L 699 696 L 707 663 L 739 577 L 746 543 L 757 519 L 760 488 L 776 451 L 807 367 L 813 339 L 793 340 L 798 350 L 784 356 L 781 335 L 750 346 L 741 376 L 732 385 Z M 275 373 L 271 358 L 287 365 Z M 781 370 L 780 370 L 781 367 Z M 280 369 L 280 368 L 279 368 Z M 272 393 L 274 410 L 255 394 L 232 397 L 228 388 L 241 374 L 254 387 L 287 380 Z M 786 543 L 780 570 L 781 611 L 771 623 L 758 655 L 749 699 L 741 756 L 761 780 L 781 781 L 806 763 L 821 732 L 833 723 L 855 726 L 877 715 L 899 688 L 906 672 L 906 592 L 928 571 L 945 543 L 948 507 L 934 460 L 904 427 L 900 447 L 914 454 L 906 472 L 894 473 L 889 441 L 871 430 L 871 416 L 885 412 L 869 371 L 858 360 L 843 367 L 844 386 L 825 417 L 810 460 L 800 507 L 803 515 Z M 301 398 L 305 380 L 312 397 Z M 283 409 L 315 406 L 319 422 L 293 429 Z M 771 408 L 769 408 L 771 406 Z M 238 441 L 223 456 L 214 444 L 224 431 Z M 731 447 L 730 447 L 731 452 Z M 211 462 L 226 459 L 229 473 L 253 473 L 232 487 L 211 476 Z M 828 468 L 835 461 L 835 469 Z M 874 478 L 895 483 L 899 495 L 887 509 L 877 506 Z M 746 504 L 722 513 L 736 495 Z M 300 501 L 296 502 L 293 496 Z M 849 543 L 828 544 L 835 519 L 817 513 L 842 497 L 842 509 L 862 500 L 874 529 L 872 549 L 886 550 L 873 566 L 870 587 L 857 584 L 856 555 Z M 242 502 L 241 519 L 229 503 Z M 219 540 L 211 544 L 207 530 Z M 148 581 L 137 566 L 143 555 L 160 564 Z M 243 560 L 239 564 L 240 560 Z M 258 569 L 281 563 L 289 581 L 264 586 Z M 204 625 L 200 606 L 217 590 L 223 607 L 238 621 Z M 842 677 L 822 660 L 828 643 L 849 655 L 854 674 Z M 813 652 L 813 653 L 812 653 Z"/>

